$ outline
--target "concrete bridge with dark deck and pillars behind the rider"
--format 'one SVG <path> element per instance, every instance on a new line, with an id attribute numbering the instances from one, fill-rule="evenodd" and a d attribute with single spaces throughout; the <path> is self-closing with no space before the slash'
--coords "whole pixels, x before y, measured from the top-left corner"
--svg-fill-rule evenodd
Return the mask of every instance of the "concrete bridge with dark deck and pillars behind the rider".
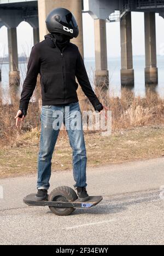
<path id="1" fill-rule="evenodd" d="M 132 55 L 131 12 L 144 12 L 145 24 L 145 84 L 157 84 L 155 13 L 164 18 L 164 1 L 160 0 L 88 0 L 89 9 L 84 11 L 83 0 L 0 0 L 0 28 L 8 30 L 9 84 L 19 86 L 16 27 L 27 21 L 33 27 L 34 44 L 48 33 L 45 19 L 57 7 L 74 13 L 79 26 L 79 36 L 72 40 L 83 56 L 82 14 L 89 13 L 95 26 L 96 84 L 108 84 L 106 22 L 120 22 L 121 36 L 121 85 L 133 87 L 134 70 Z M 1 74 L 1 71 L 0 71 Z M 0 75 L 1 78 L 1 75 Z"/>

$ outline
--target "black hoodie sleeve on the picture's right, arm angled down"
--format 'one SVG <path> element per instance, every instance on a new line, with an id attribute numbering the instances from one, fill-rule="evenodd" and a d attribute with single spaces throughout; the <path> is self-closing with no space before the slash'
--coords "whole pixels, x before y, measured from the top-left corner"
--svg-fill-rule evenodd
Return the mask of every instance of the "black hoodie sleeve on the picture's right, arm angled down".
<path id="1" fill-rule="evenodd" d="M 87 98 L 89 98 L 94 109 L 97 111 L 103 110 L 103 105 L 99 102 L 96 94 L 93 92 L 89 78 L 87 76 L 84 61 L 83 61 L 83 58 L 82 58 L 79 50 L 78 50 L 78 58 L 77 58 L 77 66 L 76 66 L 75 76 L 77 77 L 78 82 L 79 82 L 83 92 L 85 93 Z"/>

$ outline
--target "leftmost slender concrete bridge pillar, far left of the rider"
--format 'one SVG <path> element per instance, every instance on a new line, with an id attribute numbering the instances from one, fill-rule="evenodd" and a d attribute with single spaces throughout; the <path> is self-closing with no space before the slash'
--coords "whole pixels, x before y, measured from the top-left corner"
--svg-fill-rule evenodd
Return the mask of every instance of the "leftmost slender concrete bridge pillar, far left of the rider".
<path id="1" fill-rule="evenodd" d="M 17 56 L 16 27 L 8 28 L 8 50 L 9 50 L 9 86 L 12 95 L 16 95 L 20 85 L 20 75 Z"/>

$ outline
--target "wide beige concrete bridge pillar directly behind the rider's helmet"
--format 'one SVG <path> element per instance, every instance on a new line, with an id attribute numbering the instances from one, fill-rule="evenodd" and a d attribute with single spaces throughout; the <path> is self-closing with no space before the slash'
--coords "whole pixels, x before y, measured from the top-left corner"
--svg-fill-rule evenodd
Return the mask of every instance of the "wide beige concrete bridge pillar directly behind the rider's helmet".
<path id="1" fill-rule="evenodd" d="M 83 0 L 39 0 L 38 1 L 38 15 L 39 15 L 39 37 L 40 41 L 44 40 L 44 36 L 49 33 L 46 29 L 46 16 L 51 12 L 52 9 L 62 7 L 70 10 L 77 20 L 79 26 L 79 36 L 73 38 L 72 43 L 76 44 L 79 48 L 81 56 L 84 58 L 84 48 L 83 48 L 83 20 L 82 20 L 82 7 Z M 78 88 L 78 95 L 81 101 L 85 100 L 86 97 L 81 90 Z"/>

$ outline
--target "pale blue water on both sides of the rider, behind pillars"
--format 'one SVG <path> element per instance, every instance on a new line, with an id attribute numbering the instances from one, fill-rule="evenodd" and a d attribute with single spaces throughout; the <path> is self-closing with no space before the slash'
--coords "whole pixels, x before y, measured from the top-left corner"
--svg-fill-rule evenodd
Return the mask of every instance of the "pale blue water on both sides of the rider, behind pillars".
<path id="1" fill-rule="evenodd" d="M 90 78 L 91 84 L 93 84 L 93 73 L 95 71 L 95 60 L 85 59 L 85 66 L 87 73 Z M 163 56 L 157 56 L 157 67 L 159 71 L 159 84 L 156 88 L 157 92 L 164 97 L 164 58 Z M 145 68 L 145 58 L 144 56 L 133 56 L 133 68 L 134 68 L 134 94 L 136 96 L 145 95 L 145 81 L 144 81 L 144 68 Z M 114 96 L 120 96 L 121 94 L 121 81 L 120 81 L 120 69 L 121 60 L 120 58 L 112 58 L 108 60 L 108 70 L 109 70 L 109 93 Z M 8 100 L 8 90 L 9 90 L 9 65 L 3 64 L 2 70 L 2 82 L 0 83 L 1 93 L 3 93 L 3 100 Z M 19 63 L 20 70 L 20 92 L 22 84 L 26 77 L 27 63 Z"/>

